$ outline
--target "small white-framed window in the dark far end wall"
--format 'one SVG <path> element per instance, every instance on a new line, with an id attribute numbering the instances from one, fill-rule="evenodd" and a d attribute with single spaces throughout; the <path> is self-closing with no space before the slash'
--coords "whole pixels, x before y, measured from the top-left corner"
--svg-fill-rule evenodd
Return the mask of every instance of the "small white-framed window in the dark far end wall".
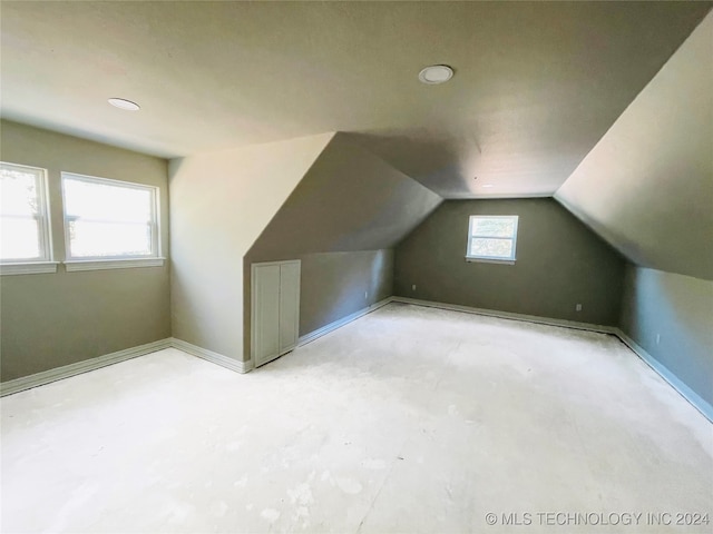
<path id="1" fill-rule="evenodd" d="M 515 263 L 517 215 L 470 216 L 466 259 Z"/>

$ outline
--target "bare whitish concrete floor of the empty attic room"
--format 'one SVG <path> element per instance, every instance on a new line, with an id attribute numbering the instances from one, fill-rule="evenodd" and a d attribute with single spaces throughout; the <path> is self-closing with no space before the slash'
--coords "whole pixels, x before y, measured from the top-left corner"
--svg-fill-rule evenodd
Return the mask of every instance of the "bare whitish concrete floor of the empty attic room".
<path id="1" fill-rule="evenodd" d="M 1 403 L 4 533 L 713 532 L 712 425 L 602 334 L 391 304 Z"/>

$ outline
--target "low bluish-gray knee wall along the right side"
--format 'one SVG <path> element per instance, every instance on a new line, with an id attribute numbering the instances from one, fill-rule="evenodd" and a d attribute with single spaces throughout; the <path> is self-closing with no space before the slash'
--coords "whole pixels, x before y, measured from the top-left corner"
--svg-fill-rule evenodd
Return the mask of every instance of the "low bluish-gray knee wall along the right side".
<path id="1" fill-rule="evenodd" d="M 628 265 L 621 328 L 713 405 L 713 281 Z"/>

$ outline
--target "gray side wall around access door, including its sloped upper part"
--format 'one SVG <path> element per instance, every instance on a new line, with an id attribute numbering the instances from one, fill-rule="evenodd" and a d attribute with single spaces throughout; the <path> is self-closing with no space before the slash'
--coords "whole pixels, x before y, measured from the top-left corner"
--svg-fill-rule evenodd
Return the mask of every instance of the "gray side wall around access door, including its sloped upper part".
<path id="1" fill-rule="evenodd" d="M 438 195 L 338 134 L 245 255 L 245 332 L 251 264 L 302 259 L 300 335 L 305 335 L 391 296 L 389 249 L 440 202 Z M 244 347 L 250 354 L 250 336 Z"/>

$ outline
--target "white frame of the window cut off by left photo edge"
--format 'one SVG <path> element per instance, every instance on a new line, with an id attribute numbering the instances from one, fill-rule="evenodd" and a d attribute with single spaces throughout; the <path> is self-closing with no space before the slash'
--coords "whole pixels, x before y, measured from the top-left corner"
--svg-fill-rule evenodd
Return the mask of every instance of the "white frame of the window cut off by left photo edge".
<path id="1" fill-rule="evenodd" d="M 0 166 L 14 168 L 19 171 L 35 175 L 37 189 L 38 214 L 36 219 L 39 227 L 40 256 L 37 258 L 0 259 L 0 275 L 35 275 L 57 273 L 58 261 L 52 261 L 52 234 L 50 228 L 49 190 L 47 186 L 47 169 L 29 165 L 0 161 Z"/>

